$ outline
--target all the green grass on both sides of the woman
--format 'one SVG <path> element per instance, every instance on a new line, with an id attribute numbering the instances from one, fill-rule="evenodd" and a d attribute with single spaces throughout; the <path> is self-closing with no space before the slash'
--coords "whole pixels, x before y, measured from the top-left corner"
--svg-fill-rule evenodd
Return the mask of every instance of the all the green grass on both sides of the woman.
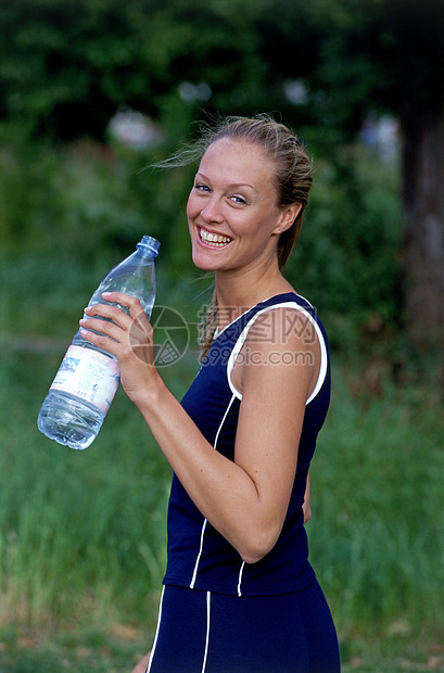
<path id="1" fill-rule="evenodd" d="M 59 359 L 10 348 L 1 364 L 0 671 L 124 672 L 154 630 L 169 468 L 122 391 L 86 452 L 40 435 Z M 164 371 L 177 394 L 194 367 L 190 354 Z M 356 397 L 347 372 L 335 370 L 307 526 L 344 671 L 444 671 L 444 423 L 430 393 Z"/>

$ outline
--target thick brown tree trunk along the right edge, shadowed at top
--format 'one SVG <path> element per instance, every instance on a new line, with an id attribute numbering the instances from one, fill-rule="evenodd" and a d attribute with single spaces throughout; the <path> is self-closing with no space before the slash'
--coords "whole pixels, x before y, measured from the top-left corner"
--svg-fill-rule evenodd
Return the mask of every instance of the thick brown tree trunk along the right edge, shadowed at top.
<path id="1" fill-rule="evenodd" d="M 404 134 L 405 308 L 416 346 L 444 346 L 444 3 L 386 0 L 383 91 Z M 444 359 L 441 363 L 444 367 Z M 444 368 L 441 372 L 444 376 Z M 444 383 L 444 379 L 442 381 Z"/>

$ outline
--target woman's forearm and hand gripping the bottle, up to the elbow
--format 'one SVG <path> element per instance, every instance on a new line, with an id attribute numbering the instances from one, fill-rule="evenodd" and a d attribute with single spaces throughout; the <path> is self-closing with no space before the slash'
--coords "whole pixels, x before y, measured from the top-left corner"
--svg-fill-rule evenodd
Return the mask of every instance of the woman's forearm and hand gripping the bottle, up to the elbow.
<path id="1" fill-rule="evenodd" d="M 251 472 L 215 450 L 165 386 L 153 364 L 152 328 L 139 302 L 122 293 L 104 299 L 128 306 L 130 315 L 103 304 L 85 309 L 89 317 L 80 320 L 83 336 L 115 355 L 125 392 L 140 409 L 189 496 L 243 555 L 245 539 L 264 530 L 267 517 L 272 518 Z"/>

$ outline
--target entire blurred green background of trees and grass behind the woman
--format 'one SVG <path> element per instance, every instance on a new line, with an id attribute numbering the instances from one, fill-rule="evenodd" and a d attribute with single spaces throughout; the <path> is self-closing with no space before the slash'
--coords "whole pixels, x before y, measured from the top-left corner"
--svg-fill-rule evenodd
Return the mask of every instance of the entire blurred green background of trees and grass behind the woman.
<path id="1" fill-rule="evenodd" d="M 152 165 L 258 112 L 314 162 L 287 275 L 331 339 L 307 531 L 343 669 L 444 671 L 443 31 L 442 0 L 0 0 L 2 673 L 124 673 L 150 647 L 169 468 L 122 391 L 85 453 L 36 419 L 142 234 L 195 341 L 194 166 Z M 180 397 L 198 366 L 162 376 Z"/>

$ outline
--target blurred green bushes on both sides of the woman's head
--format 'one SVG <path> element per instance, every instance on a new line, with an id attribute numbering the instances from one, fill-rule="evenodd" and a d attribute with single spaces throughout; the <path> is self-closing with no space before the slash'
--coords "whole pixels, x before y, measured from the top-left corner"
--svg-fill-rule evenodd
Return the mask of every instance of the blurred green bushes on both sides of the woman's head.
<path id="1" fill-rule="evenodd" d="M 402 327 L 396 164 L 381 163 L 358 144 L 338 147 L 334 157 L 318 157 L 313 129 L 305 141 L 315 166 L 313 195 L 286 274 L 316 304 L 332 346 L 368 354 L 390 348 Z M 205 303 L 206 294 L 198 296 L 207 281 L 196 285 L 191 280 L 198 272 L 189 258 L 185 215 L 194 167 L 142 169 L 162 155 L 156 152 L 104 151 L 86 142 L 59 152 L 45 144 L 3 148 L 0 236 L 10 281 L 3 326 L 14 331 L 26 320 L 30 333 L 46 333 L 39 314 L 26 308 L 25 317 L 17 303 L 31 277 L 28 301 L 56 309 L 53 330 L 60 332 L 69 318 L 63 291 L 58 299 L 53 293 L 60 276 L 69 279 L 69 303 L 78 314 L 99 280 L 143 233 L 162 242 L 157 269 L 165 296 L 180 288 L 190 306 Z"/>

